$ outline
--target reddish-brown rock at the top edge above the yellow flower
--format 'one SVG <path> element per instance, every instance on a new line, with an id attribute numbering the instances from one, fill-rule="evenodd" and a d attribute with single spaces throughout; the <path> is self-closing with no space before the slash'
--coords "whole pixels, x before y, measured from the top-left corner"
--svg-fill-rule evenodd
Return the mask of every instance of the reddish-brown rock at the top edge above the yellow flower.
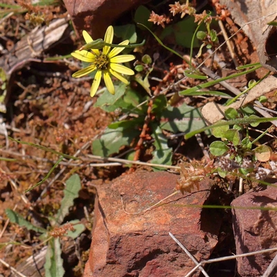
<path id="1" fill-rule="evenodd" d="M 109 25 L 124 12 L 149 0 L 64 0 L 79 35 L 87 30 L 93 39 L 103 38 Z"/>

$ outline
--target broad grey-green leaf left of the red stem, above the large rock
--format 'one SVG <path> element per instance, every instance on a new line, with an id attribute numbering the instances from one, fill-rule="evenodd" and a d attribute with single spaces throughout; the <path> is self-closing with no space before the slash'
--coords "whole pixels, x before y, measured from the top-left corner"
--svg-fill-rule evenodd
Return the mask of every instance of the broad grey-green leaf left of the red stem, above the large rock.
<path id="1" fill-rule="evenodd" d="M 138 129 L 118 127 L 117 129 L 105 129 L 100 139 L 92 143 L 93 154 L 101 157 L 108 157 L 117 153 L 123 145 L 130 145 L 132 140 L 140 134 Z"/>

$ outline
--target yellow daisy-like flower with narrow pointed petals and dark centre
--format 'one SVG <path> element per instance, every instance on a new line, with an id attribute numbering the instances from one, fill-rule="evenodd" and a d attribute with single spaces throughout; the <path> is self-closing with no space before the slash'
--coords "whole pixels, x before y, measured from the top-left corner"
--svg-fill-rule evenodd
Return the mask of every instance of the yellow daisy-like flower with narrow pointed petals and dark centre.
<path id="1" fill-rule="evenodd" d="M 87 33 L 87 31 L 83 30 L 82 35 L 87 44 L 89 42 L 93 42 L 93 39 Z M 114 28 L 112 26 L 109 26 L 107 28 L 104 41 L 108 44 L 111 44 L 113 38 Z M 129 40 L 120 42 L 120 45 L 127 44 L 129 44 Z M 80 78 L 91 73 L 92 71 L 97 70 L 93 83 L 91 85 L 91 97 L 94 96 L 99 87 L 102 73 L 104 75 L 104 81 L 108 91 L 111 94 L 114 94 L 114 84 L 111 81 L 110 75 L 114 75 L 114 77 L 118 78 L 121 82 L 124 82 L 125 84 L 128 84 L 128 81 L 121 74 L 134 75 L 134 71 L 132 71 L 132 69 L 129 69 L 126 66 L 120 64 L 122 62 L 129 62 L 135 59 L 134 55 L 118 55 L 121 51 L 123 51 L 123 49 L 125 49 L 125 47 L 114 47 L 111 50 L 111 46 L 104 46 L 102 49 L 102 53 L 98 49 L 91 49 L 91 51 L 77 50 L 71 53 L 71 55 L 73 55 L 73 57 L 77 58 L 78 60 L 81 60 L 83 62 L 91 62 L 91 65 L 75 72 L 72 77 Z"/>

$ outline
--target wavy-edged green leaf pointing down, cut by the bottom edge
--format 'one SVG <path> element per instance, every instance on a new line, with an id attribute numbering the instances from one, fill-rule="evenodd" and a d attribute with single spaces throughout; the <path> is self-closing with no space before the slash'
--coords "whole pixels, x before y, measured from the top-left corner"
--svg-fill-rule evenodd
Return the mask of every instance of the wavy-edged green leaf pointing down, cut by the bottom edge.
<path id="1" fill-rule="evenodd" d="M 63 277 L 64 268 L 62 267 L 62 250 L 59 238 L 53 238 L 48 242 L 46 251 L 46 261 L 44 264 L 45 277 Z"/>

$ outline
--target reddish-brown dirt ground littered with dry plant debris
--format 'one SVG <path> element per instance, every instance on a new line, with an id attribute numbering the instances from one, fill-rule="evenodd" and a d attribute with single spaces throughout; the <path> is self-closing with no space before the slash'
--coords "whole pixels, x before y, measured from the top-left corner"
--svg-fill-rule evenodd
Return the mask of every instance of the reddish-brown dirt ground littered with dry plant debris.
<path id="1" fill-rule="evenodd" d="M 6 1 L 5 3 L 10 2 Z M 5 8 L 2 7 L 1 9 L 3 11 Z M 35 28 L 29 20 L 26 20 L 25 15 L 26 11 L 15 12 L 14 15 L 1 22 L 0 42 L 6 50 L 12 49 L 12 46 L 19 42 L 21 37 Z M 46 15 L 49 16 L 49 20 L 52 16 L 54 18 L 66 17 L 66 9 L 62 3 L 48 6 Z M 229 35 L 233 34 L 232 26 L 229 26 L 227 32 Z M 243 36 L 242 41 L 238 42 L 238 39 L 241 39 L 238 36 L 233 37 L 232 41 L 235 45 L 238 62 L 241 65 L 258 62 L 258 55 L 256 51 L 253 51 L 251 41 L 243 33 L 240 35 Z M 168 72 L 175 66 L 184 69 L 185 66 L 183 66 L 181 59 L 168 58 L 168 53 L 157 44 L 153 37 L 148 37 L 148 39 L 149 47 L 145 48 L 145 52 L 152 56 L 154 51 L 150 45 L 154 44 L 159 48 L 161 57 L 167 59 L 168 68 L 165 68 L 164 71 L 157 71 L 157 78 L 163 79 L 166 76 L 166 70 Z M 223 38 L 220 37 L 220 40 L 223 41 Z M 71 77 L 75 71 L 81 68 L 73 57 L 67 57 L 63 60 L 48 60 L 47 62 L 43 60 L 45 57 L 53 57 L 54 55 L 68 55 L 80 45 L 75 33 L 71 31 L 68 38 L 57 42 L 53 48 L 46 49 L 42 53 L 40 57 L 42 62 L 27 62 L 14 73 L 14 81 L 6 103 L 7 112 L 1 114 L 8 136 L 19 141 L 36 143 L 71 156 L 85 157 L 87 154 L 92 154 L 91 142 L 102 134 L 105 127 L 114 121 L 116 115 L 93 107 L 97 97 L 91 98 L 89 96 L 92 79 L 78 80 Z M 182 51 L 181 48 L 179 51 Z M 136 53 L 136 55 L 139 59 L 142 54 Z M 218 74 L 229 75 L 233 73 L 235 67 L 230 65 L 232 60 L 226 46 L 223 46 L 217 55 L 220 60 L 229 64 L 224 69 L 225 72 L 218 72 Z M 211 65 L 211 59 L 206 62 L 206 65 Z M 249 74 L 247 78 L 242 75 L 240 78 L 231 80 L 230 83 L 235 87 L 243 87 L 248 80 L 260 78 L 264 74 L 265 69 L 260 69 L 258 73 Z M 170 76 L 169 82 L 174 81 L 176 78 Z M 195 81 L 186 83 L 186 85 L 191 86 L 195 84 L 197 84 Z M 136 84 L 134 84 L 135 86 Z M 218 97 L 186 97 L 185 101 L 191 106 L 202 107 L 208 101 L 219 99 Z M 209 145 L 213 139 L 203 134 L 202 141 L 204 145 Z M 199 147 L 195 138 L 189 141 L 182 138 L 175 139 L 171 143 L 175 150 L 173 157 L 175 165 L 180 161 L 193 159 L 201 161 L 204 157 L 202 148 Z M 17 211 L 32 224 L 48 229 L 50 226 L 49 218 L 55 215 L 60 208 L 66 179 L 77 172 L 81 179 L 82 189 L 64 222 L 78 219 L 86 226 L 86 230 L 75 242 L 69 238 L 62 238 L 62 258 L 64 259 L 66 276 L 82 276 L 84 264 L 88 259 L 93 226 L 93 202 L 96 192 L 91 184 L 100 185 L 110 182 L 122 174 L 134 172 L 137 167 L 132 167 L 132 169 L 127 166 L 91 167 L 88 165 L 93 160 L 82 163 L 63 161 L 42 185 L 29 193 L 24 193 L 30 186 L 37 184 L 48 174 L 58 156 L 29 145 L 7 140 L 4 134 L 0 136 L 0 145 L 1 157 L 6 158 L 0 161 L 0 237 L 1 243 L 10 243 L 1 248 L 1 259 L 5 260 L 11 267 L 19 269 L 27 258 L 44 247 L 42 241 L 39 240 L 39 234 L 28 231 L 18 224 L 8 222 L 5 213 L 6 208 Z M 120 153 L 125 150 L 127 148 L 122 148 Z M 151 147 L 143 149 L 140 160 L 149 161 L 152 150 Z M 118 157 L 118 155 L 114 155 L 114 157 Z M 146 169 L 150 170 L 147 167 Z M 227 190 L 226 180 L 219 178 L 218 184 L 222 191 L 221 204 L 229 205 L 238 195 L 237 186 L 235 185 L 230 193 Z M 231 253 L 235 253 L 235 244 L 231 229 L 231 213 L 226 211 L 224 224 L 222 224 L 220 231 L 219 244 L 211 258 L 227 256 Z M 219 267 L 235 272 L 234 261 L 226 262 Z M 217 269 L 218 265 L 214 268 L 211 267 L 210 276 L 216 276 L 213 275 L 213 272 L 216 272 Z M 5 277 L 12 276 L 11 270 L 3 265 L 0 267 L 0 274 Z"/>

